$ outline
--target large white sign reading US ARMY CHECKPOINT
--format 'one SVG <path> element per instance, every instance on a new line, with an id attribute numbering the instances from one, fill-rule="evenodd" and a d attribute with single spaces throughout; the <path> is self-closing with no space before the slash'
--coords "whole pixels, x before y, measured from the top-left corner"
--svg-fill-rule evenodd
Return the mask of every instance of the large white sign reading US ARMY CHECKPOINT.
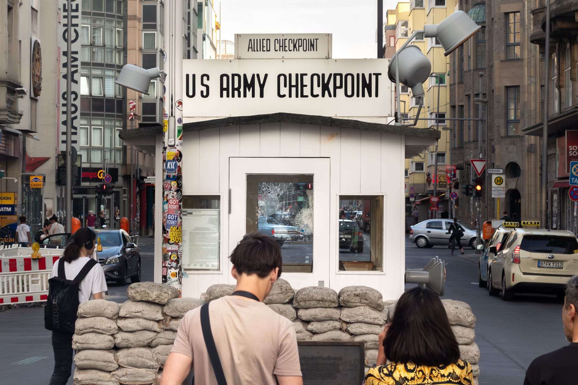
<path id="1" fill-rule="evenodd" d="M 183 117 L 391 116 L 388 61 L 183 60 Z"/>

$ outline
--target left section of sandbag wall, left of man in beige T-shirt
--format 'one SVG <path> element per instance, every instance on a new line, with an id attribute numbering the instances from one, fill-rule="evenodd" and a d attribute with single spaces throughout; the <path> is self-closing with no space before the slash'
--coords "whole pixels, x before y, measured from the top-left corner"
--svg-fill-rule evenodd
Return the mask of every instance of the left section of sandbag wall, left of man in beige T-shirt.
<path id="1" fill-rule="evenodd" d="M 75 384 L 157 384 L 180 320 L 205 303 L 177 298 L 176 288 L 151 282 L 131 284 L 127 295 L 120 306 L 102 299 L 80 304 Z"/>

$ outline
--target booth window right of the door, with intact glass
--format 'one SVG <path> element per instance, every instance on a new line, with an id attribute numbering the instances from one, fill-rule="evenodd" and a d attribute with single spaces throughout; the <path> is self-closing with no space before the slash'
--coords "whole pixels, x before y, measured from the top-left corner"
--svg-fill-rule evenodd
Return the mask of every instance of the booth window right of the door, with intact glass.
<path id="1" fill-rule="evenodd" d="M 383 195 L 339 197 L 339 270 L 383 271 Z"/>

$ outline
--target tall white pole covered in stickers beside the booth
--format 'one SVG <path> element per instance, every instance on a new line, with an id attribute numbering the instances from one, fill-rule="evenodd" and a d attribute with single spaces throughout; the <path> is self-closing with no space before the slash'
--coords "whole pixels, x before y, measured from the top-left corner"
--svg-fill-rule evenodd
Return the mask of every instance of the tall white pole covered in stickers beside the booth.
<path id="1" fill-rule="evenodd" d="M 183 228 L 181 210 L 183 202 L 182 175 L 182 94 L 183 68 L 183 2 L 165 2 L 163 101 L 163 178 L 162 178 L 162 283 L 181 291 L 183 268 L 181 243 Z"/>

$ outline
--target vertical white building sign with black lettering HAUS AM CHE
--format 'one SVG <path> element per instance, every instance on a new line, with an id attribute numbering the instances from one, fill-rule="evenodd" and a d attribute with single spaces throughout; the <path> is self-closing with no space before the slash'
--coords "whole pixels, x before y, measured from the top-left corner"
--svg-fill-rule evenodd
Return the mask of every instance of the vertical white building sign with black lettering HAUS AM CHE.
<path id="1" fill-rule="evenodd" d="M 60 143 L 59 149 L 66 150 L 66 111 L 71 110 L 72 142 L 71 146 L 78 150 L 78 125 L 80 119 L 80 0 L 72 0 L 68 9 L 66 0 L 60 1 L 61 28 L 58 35 L 60 46 Z M 68 31 L 68 18 L 71 19 L 72 29 Z M 71 51 L 68 52 L 68 39 L 71 39 Z M 66 63 L 71 62 L 71 100 L 66 100 Z"/>

